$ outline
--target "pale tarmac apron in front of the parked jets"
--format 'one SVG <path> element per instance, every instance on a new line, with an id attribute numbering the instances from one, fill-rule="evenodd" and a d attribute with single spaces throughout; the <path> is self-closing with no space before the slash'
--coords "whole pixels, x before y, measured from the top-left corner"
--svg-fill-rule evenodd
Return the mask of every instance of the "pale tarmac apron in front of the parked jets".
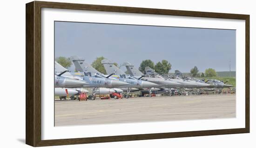
<path id="1" fill-rule="evenodd" d="M 55 100 L 55 126 L 235 117 L 236 94 Z"/>

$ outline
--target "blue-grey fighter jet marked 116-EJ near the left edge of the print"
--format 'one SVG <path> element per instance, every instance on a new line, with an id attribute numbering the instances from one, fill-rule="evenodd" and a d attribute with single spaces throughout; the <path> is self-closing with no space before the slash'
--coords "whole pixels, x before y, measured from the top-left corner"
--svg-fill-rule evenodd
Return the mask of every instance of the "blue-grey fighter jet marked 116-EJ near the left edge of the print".
<path id="1" fill-rule="evenodd" d="M 64 70 L 64 71 L 63 71 Z M 65 72 L 66 73 L 63 73 Z M 81 79 L 81 76 L 77 76 L 74 75 L 72 73 L 70 73 L 65 67 L 62 67 L 60 64 L 58 64 L 55 61 L 55 73 L 63 73 L 62 76 L 65 76 L 67 78 L 74 78 L 77 80 Z M 108 75 L 107 77 L 102 77 L 99 74 L 95 74 L 95 76 L 91 76 L 90 73 L 85 73 L 82 81 L 87 82 L 87 84 L 82 85 L 81 87 L 94 87 L 93 88 L 93 100 L 96 98 L 96 94 L 101 94 L 101 90 L 105 91 L 106 89 L 108 90 L 109 94 L 115 92 L 114 89 L 108 89 L 108 88 L 113 88 L 113 87 L 121 87 L 121 86 L 126 86 L 129 85 L 126 82 L 122 82 L 122 81 L 118 81 L 118 80 L 113 80 L 113 79 L 109 79 L 108 77 L 111 75 Z M 100 87 L 108 87 L 108 88 L 101 88 Z M 120 91 L 120 90 L 118 90 Z M 98 93 L 97 93 L 98 92 Z"/>

